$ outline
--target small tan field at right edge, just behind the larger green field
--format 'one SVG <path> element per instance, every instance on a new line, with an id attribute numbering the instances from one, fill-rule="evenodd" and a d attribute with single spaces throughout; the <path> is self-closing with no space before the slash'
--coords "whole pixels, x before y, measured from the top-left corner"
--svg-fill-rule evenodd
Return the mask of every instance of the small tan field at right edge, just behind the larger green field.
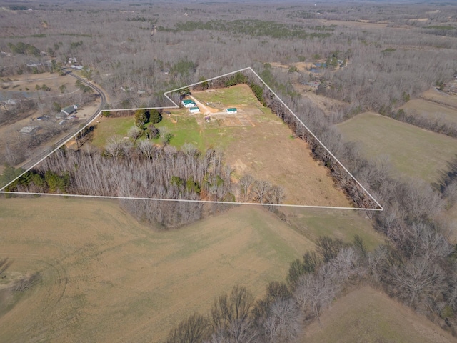
<path id="1" fill-rule="evenodd" d="M 433 120 L 457 124 L 457 108 L 423 99 L 414 99 L 401 106 L 407 114 L 419 114 Z"/>

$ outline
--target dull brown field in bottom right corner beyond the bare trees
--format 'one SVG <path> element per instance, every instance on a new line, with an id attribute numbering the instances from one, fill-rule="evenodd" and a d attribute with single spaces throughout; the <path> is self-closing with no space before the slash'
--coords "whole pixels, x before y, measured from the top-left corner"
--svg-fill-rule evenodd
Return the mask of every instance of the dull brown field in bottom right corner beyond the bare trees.
<path id="1" fill-rule="evenodd" d="M 362 287 L 338 299 L 301 342 L 451 343 L 455 337 L 386 294 Z"/>

